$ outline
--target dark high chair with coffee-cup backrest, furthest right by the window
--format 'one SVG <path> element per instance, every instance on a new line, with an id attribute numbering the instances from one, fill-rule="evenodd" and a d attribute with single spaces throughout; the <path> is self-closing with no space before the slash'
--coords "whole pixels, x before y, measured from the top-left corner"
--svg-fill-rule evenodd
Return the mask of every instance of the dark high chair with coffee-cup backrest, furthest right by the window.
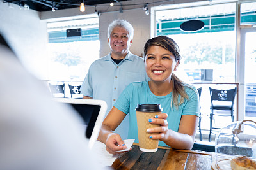
<path id="1" fill-rule="evenodd" d="M 233 115 L 233 106 L 234 100 L 237 92 L 237 87 L 234 89 L 229 90 L 218 90 L 218 89 L 210 89 L 210 96 L 211 96 L 211 113 L 210 113 L 210 134 L 209 134 L 209 141 L 211 141 L 211 133 L 212 133 L 212 119 L 213 115 L 218 116 L 231 116 L 232 122 L 234 122 L 234 115 Z M 227 113 L 214 113 L 214 110 L 229 110 L 230 114 Z"/>

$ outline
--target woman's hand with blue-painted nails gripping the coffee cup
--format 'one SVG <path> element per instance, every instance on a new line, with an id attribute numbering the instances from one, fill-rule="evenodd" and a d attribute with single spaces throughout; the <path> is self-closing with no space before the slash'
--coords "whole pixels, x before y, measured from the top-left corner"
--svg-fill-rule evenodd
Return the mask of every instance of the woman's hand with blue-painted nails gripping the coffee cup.
<path id="1" fill-rule="evenodd" d="M 168 122 L 166 118 L 168 115 L 166 113 L 161 113 L 156 115 L 155 118 L 151 118 L 148 120 L 150 124 L 159 124 L 159 127 L 153 127 L 147 129 L 148 133 L 159 133 L 159 134 L 150 134 L 150 139 L 159 139 L 164 141 L 164 138 L 167 138 L 168 135 Z"/>

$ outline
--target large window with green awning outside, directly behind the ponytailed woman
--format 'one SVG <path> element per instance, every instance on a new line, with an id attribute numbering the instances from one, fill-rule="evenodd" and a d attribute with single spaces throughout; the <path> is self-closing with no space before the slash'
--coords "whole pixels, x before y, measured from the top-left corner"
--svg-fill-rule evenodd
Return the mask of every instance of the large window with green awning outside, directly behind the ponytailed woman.
<path id="1" fill-rule="evenodd" d="M 236 3 L 156 11 L 156 35 L 174 39 L 182 53 L 176 74 L 184 81 L 235 81 Z M 184 32 L 180 24 L 201 20 L 204 29 Z"/>

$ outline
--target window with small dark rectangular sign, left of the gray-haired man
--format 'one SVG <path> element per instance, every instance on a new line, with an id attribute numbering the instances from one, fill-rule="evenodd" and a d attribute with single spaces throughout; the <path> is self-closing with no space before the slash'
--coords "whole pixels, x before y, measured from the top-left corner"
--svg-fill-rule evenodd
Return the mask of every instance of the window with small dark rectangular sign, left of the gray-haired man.
<path id="1" fill-rule="evenodd" d="M 49 80 L 83 81 L 92 62 L 99 59 L 99 18 L 49 22 L 47 30 Z M 69 36 L 68 30 L 76 34 Z"/>

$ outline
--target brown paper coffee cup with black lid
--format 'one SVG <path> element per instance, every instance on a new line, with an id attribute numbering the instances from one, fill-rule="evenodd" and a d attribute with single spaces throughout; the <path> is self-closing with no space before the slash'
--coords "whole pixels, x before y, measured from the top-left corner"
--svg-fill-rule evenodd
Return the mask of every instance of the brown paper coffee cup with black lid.
<path id="1" fill-rule="evenodd" d="M 157 124 L 150 124 L 148 120 L 155 118 L 155 115 L 161 114 L 163 109 L 160 104 L 138 104 L 136 108 L 139 147 L 143 152 L 156 152 L 158 148 L 158 139 L 150 139 L 149 136 L 158 133 L 148 133 L 147 129 L 159 127 Z"/>

